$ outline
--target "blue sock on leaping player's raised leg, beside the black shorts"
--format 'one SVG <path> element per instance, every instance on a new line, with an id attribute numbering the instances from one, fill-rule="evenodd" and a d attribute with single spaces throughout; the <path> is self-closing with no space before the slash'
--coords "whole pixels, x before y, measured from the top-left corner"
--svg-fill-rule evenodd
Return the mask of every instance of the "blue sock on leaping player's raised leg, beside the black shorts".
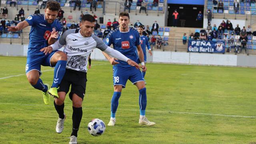
<path id="1" fill-rule="evenodd" d="M 66 64 L 67 61 L 65 60 L 59 60 L 54 68 L 54 78 L 52 82 L 52 88 L 58 88 L 58 85 L 60 84 L 65 71 L 66 71 Z"/>

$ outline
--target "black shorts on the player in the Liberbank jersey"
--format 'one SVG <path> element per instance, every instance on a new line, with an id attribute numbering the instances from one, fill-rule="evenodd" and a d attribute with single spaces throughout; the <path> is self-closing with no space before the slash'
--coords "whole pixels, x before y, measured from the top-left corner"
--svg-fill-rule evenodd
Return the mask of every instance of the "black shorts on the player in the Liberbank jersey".
<path id="1" fill-rule="evenodd" d="M 80 98 L 82 98 L 82 100 L 84 100 L 86 82 L 86 72 L 66 69 L 65 75 L 60 82 L 58 92 L 66 92 L 67 94 L 71 84 L 69 98 L 72 100 L 72 95 L 77 94 Z"/>

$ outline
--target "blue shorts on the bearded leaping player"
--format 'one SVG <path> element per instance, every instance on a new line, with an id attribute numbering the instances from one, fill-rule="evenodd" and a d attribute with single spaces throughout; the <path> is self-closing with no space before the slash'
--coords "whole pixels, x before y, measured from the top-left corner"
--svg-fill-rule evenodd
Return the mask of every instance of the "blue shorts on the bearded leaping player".
<path id="1" fill-rule="evenodd" d="M 39 74 L 41 75 L 41 65 L 42 66 L 50 66 L 51 65 L 51 58 L 52 56 L 58 52 L 58 50 L 52 51 L 50 54 L 41 54 L 36 56 L 27 56 L 27 64 L 26 64 L 26 74 L 30 72 L 31 70 L 37 70 Z"/>

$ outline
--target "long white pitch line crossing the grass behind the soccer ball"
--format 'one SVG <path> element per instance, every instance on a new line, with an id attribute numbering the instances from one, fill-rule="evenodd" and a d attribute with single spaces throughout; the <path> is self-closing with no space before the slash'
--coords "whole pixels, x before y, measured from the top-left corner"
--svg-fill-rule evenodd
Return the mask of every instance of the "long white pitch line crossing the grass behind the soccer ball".
<path id="1" fill-rule="evenodd" d="M 43 104 L 17 104 L 17 103 L 4 103 L 0 104 L 10 104 L 10 105 L 20 105 L 20 106 L 52 106 L 52 105 L 43 105 Z M 69 108 L 69 107 L 66 107 Z M 110 110 L 110 108 L 86 108 L 88 110 Z M 134 109 L 120 109 L 125 111 L 138 111 Z M 198 112 L 172 112 L 172 111 L 160 111 L 160 110 L 147 110 L 147 112 L 157 112 L 157 113 L 172 113 L 172 114 L 194 114 L 194 115 L 207 115 L 207 116 L 223 116 L 223 117 L 234 117 L 234 118 L 256 118 L 256 116 L 239 116 L 239 115 L 226 115 L 226 114 L 207 114 L 207 113 L 198 113 Z"/>

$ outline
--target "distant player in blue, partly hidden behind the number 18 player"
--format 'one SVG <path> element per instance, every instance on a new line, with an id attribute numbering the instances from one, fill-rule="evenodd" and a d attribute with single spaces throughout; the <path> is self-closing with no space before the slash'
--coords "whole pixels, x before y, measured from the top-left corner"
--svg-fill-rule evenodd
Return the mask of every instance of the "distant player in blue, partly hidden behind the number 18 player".
<path id="1" fill-rule="evenodd" d="M 150 54 L 150 56 L 152 56 L 152 51 L 151 51 L 151 48 L 150 48 L 150 44 L 148 42 L 148 37 L 146 37 L 142 34 L 143 29 L 144 29 L 143 26 L 138 27 L 138 32 L 140 34 L 140 46 L 141 46 L 143 54 L 144 54 L 144 63 L 145 63 L 145 66 L 146 66 L 146 62 L 147 62 L 146 46 L 148 48 L 148 53 Z M 136 52 L 136 54 L 138 54 L 137 50 L 135 52 Z M 138 64 L 141 63 L 140 58 L 138 58 L 138 60 L 136 62 Z M 145 74 L 146 74 L 146 71 L 142 71 L 142 76 L 143 76 L 144 80 L 145 80 Z M 146 84 L 146 82 L 145 82 L 145 84 Z"/>

